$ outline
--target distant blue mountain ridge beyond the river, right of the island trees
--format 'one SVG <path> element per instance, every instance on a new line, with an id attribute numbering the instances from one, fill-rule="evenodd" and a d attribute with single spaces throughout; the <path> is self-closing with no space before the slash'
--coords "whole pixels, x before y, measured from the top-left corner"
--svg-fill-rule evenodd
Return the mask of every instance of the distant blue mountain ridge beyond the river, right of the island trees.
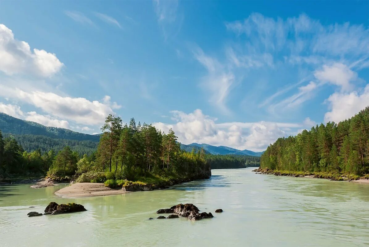
<path id="1" fill-rule="evenodd" d="M 195 148 L 195 150 L 200 150 L 201 147 L 204 148 L 204 150 L 206 151 L 206 153 L 209 154 L 221 154 L 221 155 L 226 155 L 226 154 L 233 154 L 233 155 L 249 155 L 249 156 L 258 156 L 260 157 L 263 152 L 254 152 L 254 151 L 250 151 L 250 150 L 238 150 L 235 148 L 230 148 L 230 147 L 225 147 L 225 146 L 213 146 L 213 145 L 209 145 L 209 144 L 199 144 L 199 143 L 191 143 L 191 144 L 181 144 L 181 149 L 187 151 L 187 152 L 191 152 L 192 148 Z"/>

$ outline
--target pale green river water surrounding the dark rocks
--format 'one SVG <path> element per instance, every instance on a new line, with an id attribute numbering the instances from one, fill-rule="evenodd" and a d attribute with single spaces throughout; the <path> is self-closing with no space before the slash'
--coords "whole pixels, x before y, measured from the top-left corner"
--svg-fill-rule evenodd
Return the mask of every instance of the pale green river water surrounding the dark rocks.
<path id="1" fill-rule="evenodd" d="M 162 191 L 74 199 L 54 195 L 65 185 L 1 186 L 0 246 L 369 246 L 369 185 L 251 170 L 213 170 L 211 179 Z M 27 217 L 52 201 L 88 211 Z M 156 210 L 178 203 L 215 217 L 156 219 Z M 224 212 L 214 213 L 218 208 Z"/>

